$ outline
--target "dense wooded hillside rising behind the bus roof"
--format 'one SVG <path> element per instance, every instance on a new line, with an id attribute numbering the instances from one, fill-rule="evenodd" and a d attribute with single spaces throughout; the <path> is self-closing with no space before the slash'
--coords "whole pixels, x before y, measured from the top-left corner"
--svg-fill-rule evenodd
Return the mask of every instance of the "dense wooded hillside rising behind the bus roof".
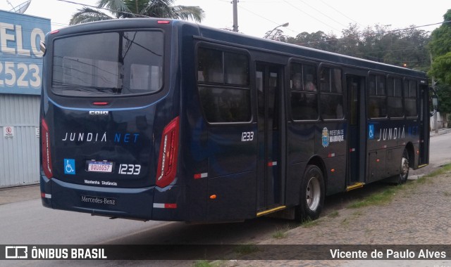
<path id="1" fill-rule="evenodd" d="M 286 39 L 290 44 L 422 71 L 427 71 L 431 63 L 427 50 L 429 40 L 428 32 L 414 25 L 404 30 L 390 30 L 381 25 L 360 30 L 357 24 L 342 30 L 340 38 L 319 31 L 302 32 Z"/>

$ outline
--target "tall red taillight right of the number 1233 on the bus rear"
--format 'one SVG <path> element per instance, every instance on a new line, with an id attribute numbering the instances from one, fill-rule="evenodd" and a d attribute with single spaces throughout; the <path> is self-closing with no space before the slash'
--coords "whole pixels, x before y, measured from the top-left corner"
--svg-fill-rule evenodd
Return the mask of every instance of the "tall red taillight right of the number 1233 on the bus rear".
<path id="1" fill-rule="evenodd" d="M 163 188 L 170 185 L 177 173 L 179 117 L 175 117 L 163 130 L 161 136 L 156 185 Z"/>

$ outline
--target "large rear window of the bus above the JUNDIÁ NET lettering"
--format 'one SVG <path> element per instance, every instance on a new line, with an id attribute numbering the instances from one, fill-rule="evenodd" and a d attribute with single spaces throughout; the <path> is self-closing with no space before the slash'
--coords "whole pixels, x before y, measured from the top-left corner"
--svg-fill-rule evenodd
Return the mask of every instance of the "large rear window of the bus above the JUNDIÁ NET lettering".
<path id="1" fill-rule="evenodd" d="M 154 93 L 162 84 L 162 32 L 104 32 L 54 41 L 54 93 L 130 95 Z"/>

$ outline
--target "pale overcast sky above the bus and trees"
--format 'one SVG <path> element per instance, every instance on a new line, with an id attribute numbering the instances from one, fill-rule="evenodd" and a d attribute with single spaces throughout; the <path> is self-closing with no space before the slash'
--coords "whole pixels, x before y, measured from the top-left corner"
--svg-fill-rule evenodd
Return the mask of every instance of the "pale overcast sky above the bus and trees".
<path id="1" fill-rule="evenodd" d="M 10 11 L 25 0 L 0 0 L 0 9 Z M 70 0 L 96 6 L 97 0 Z M 232 0 L 175 0 L 175 5 L 199 6 L 205 11 L 203 25 L 232 28 Z M 295 37 L 301 32 L 317 32 L 341 36 L 341 31 L 352 24 L 359 30 L 374 25 L 388 30 L 403 29 L 410 25 L 432 31 L 443 22 L 443 15 L 451 8 L 449 0 L 239 0 L 238 30 L 244 34 L 263 37 L 278 25 L 284 34 Z M 70 17 L 82 6 L 58 0 L 32 0 L 27 15 L 51 19 L 51 28 L 66 27 Z"/>

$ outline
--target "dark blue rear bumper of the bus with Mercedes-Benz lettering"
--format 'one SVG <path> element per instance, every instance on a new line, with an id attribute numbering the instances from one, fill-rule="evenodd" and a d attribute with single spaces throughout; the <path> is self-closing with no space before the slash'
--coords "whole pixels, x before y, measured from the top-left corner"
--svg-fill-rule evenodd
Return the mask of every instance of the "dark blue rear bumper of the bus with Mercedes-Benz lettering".
<path id="1" fill-rule="evenodd" d="M 41 200 L 44 207 L 78 211 L 112 218 L 142 221 L 180 221 L 184 188 L 170 190 L 148 188 L 106 188 L 66 183 L 41 176 Z"/>

